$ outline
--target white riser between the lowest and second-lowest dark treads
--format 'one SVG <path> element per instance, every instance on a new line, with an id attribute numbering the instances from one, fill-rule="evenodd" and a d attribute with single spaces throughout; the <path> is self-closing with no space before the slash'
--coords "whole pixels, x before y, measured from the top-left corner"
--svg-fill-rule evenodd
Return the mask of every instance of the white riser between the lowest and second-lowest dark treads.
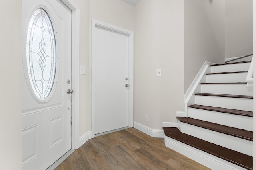
<path id="1" fill-rule="evenodd" d="M 246 139 L 241 139 L 224 133 L 204 129 L 198 126 L 181 123 L 180 131 L 188 135 L 197 137 L 204 141 L 235 150 L 237 152 L 252 156 L 253 142 Z"/>

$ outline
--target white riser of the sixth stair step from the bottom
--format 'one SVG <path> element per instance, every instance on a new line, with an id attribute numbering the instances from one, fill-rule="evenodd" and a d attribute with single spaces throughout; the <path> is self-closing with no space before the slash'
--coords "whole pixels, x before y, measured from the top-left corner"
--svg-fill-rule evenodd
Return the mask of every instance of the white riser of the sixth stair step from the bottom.
<path id="1" fill-rule="evenodd" d="M 247 72 L 230 74 L 210 74 L 206 75 L 207 83 L 236 83 L 245 82 Z"/>

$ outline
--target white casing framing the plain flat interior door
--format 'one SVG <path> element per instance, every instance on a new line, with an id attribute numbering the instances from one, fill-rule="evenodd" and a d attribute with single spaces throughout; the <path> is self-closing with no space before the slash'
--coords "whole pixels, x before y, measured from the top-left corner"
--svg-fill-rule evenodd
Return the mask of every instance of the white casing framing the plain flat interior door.
<path id="1" fill-rule="evenodd" d="M 94 86 L 95 86 L 95 28 L 100 27 L 123 35 L 128 36 L 128 75 L 129 75 L 129 91 L 128 91 L 128 126 L 133 127 L 133 80 L 134 80 L 134 33 L 128 29 L 117 27 L 102 21 L 92 19 L 92 138 L 95 137 L 95 104 L 94 104 Z"/>

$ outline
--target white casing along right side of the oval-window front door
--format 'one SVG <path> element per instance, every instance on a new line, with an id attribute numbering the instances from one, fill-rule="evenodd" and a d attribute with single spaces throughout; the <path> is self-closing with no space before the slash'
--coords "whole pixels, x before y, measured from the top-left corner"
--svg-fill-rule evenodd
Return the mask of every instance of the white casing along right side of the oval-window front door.
<path id="1" fill-rule="evenodd" d="M 72 38 L 71 38 L 71 77 L 72 77 L 72 111 L 71 111 L 71 148 L 79 146 L 79 35 L 80 10 L 73 0 L 61 0 L 72 10 Z"/>

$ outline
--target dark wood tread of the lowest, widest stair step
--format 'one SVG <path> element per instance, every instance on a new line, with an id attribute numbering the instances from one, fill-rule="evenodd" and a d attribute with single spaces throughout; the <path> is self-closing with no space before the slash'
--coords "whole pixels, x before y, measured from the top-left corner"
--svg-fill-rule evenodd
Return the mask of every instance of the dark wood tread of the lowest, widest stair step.
<path id="1" fill-rule="evenodd" d="M 236 152 L 234 150 L 216 145 L 214 143 L 198 139 L 185 133 L 181 133 L 178 128 L 175 127 L 163 127 L 163 129 L 165 135 L 170 138 L 176 139 L 177 141 L 217 156 L 218 158 L 221 158 L 248 170 L 252 170 L 252 156 L 248 156 L 246 154 Z"/>

